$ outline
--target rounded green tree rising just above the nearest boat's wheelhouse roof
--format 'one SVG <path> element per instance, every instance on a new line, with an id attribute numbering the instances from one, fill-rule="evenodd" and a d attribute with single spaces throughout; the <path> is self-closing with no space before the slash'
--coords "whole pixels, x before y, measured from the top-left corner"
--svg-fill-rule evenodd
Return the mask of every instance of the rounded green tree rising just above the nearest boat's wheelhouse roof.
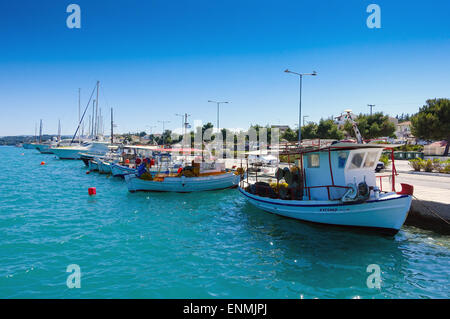
<path id="1" fill-rule="evenodd" d="M 372 115 L 359 114 L 355 121 L 364 139 L 390 137 L 395 132 L 395 124 L 389 120 L 389 116 L 384 115 L 382 112 L 377 112 Z M 345 123 L 344 129 L 351 136 L 355 137 L 355 132 L 349 121 Z"/>

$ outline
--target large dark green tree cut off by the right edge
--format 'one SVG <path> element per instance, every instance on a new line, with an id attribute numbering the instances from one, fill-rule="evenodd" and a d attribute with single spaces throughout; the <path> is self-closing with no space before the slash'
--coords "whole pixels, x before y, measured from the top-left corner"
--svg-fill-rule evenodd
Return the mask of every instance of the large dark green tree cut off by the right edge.
<path id="1" fill-rule="evenodd" d="M 411 131 L 415 137 L 425 140 L 446 140 L 445 156 L 450 144 L 450 100 L 430 99 L 411 118 Z"/>

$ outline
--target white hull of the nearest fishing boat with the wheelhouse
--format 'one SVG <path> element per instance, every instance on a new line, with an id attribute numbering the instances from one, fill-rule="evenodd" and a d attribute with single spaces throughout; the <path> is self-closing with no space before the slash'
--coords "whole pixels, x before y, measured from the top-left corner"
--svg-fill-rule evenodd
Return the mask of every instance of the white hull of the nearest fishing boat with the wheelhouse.
<path id="1" fill-rule="evenodd" d="M 287 201 L 250 194 L 239 188 L 255 207 L 284 217 L 302 221 L 378 229 L 396 234 L 408 216 L 412 197 L 386 194 L 379 200 L 343 204 L 340 201 Z"/>

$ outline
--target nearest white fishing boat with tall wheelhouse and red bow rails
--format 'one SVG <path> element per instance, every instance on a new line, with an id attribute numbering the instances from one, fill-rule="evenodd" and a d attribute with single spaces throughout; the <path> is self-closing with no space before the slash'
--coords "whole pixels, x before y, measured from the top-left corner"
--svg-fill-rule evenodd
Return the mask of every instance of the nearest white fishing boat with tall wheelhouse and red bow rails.
<path id="1" fill-rule="evenodd" d="M 239 191 L 255 207 L 302 221 L 377 229 L 396 234 L 408 215 L 413 187 L 383 192 L 375 166 L 384 148 L 392 145 L 337 143 L 297 152 L 294 169 L 277 171 L 277 186 L 241 184 Z M 392 159 L 392 183 L 395 163 Z M 387 177 L 387 176 L 384 176 Z M 284 178 L 287 187 L 280 187 Z M 380 185 L 381 187 L 382 185 Z"/>

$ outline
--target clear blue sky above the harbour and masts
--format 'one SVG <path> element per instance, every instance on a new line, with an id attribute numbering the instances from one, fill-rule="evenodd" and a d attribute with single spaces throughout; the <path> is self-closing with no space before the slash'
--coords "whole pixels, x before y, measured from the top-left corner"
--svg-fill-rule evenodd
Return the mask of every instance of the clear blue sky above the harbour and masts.
<path id="1" fill-rule="evenodd" d="M 66 7 L 81 7 L 81 29 Z M 381 29 L 366 7 L 381 7 Z M 413 113 L 450 93 L 450 2 L 387 0 L 71 0 L 0 2 L 0 136 L 73 133 L 97 80 L 119 132 L 179 127 L 175 113 L 221 126 L 289 124 L 305 78 L 308 120 L 346 108 Z M 109 117 L 105 119 L 106 127 Z"/>

